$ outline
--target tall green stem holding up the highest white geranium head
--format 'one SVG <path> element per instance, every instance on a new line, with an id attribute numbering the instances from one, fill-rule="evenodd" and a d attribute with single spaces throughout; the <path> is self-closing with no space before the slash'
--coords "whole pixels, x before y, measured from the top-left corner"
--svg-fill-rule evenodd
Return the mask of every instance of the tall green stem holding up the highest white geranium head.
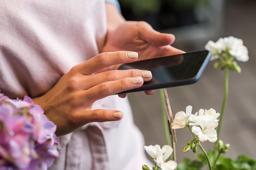
<path id="1" fill-rule="evenodd" d="M 220 111 L 220 120 L 218 122 L 218 129 L 217 129 L 218 139 L 219 139 L 219 136 L 220 136 L 220 129 L 221 129 L 221 125 L 222 125 L 222 120 L 223 120 L 225 107 L 226 107 L 226 104 L 227 104 L 228 94 L 229 94 L 229 69 L 225 68 L 224 98 L 223 98 L 223 102 L 222 102 L 222 107 L 221 107 L 221 111 Z M 217 142 L 218 141 L 216 141 L 216 143 Z"/>

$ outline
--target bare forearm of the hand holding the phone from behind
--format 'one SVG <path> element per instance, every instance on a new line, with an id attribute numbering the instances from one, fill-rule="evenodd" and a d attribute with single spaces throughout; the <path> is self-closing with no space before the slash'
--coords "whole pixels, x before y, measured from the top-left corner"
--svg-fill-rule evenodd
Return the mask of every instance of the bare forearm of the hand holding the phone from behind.
<path id="1" fill-rule="evenodd" d="M 115 30 L 121 23 L 126 21 L 119 9 L 111 3 L 106 3 L 106 15 L 108 31 Z"/>

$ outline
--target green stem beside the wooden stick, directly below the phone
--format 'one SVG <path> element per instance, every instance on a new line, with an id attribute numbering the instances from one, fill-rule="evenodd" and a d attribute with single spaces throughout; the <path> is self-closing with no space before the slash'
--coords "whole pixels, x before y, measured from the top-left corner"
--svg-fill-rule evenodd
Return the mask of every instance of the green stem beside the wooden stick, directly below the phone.
<path id="1" fill-rule="evenodd" d="M 161 95 L 161 102 L 162 102 L 162 113 L 163 113 L 163 121 L 164 121 L 165 139 L 166 139 L 166 143 L 168 145 L 172 146 L 171 139 L 170 139 L 168 120 L 167 120 L 167 117 L 166 117 L 166 107 L 165 107 L 164 90 L 163 89 L 160 89 L 160 95 Z"/>

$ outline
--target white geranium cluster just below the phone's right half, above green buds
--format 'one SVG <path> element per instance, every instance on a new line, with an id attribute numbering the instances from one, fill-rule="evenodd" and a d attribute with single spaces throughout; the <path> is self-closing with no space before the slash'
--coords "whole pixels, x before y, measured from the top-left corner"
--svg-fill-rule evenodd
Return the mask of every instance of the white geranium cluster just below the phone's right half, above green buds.
<path id="1" fill-rule="evenodd" d="M 216 113 L 214 109 L 200 109 L 192 114 L 192 106 L 186 107 L 186 113 L 179 111 L 176 113 L 172 123 L 173 129 L 180 129 L 185 126 L 192 126 L 192 132 L 201 142 L 209 140 L 217 141 L 217 132 L 215 128 L 218 126 L 218 117 L 220 113 Z"/>

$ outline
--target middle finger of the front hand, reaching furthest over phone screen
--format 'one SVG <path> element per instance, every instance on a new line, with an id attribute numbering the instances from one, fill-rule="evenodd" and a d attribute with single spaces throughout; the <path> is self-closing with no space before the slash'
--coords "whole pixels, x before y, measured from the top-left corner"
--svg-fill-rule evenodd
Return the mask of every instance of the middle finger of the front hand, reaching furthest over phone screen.
<path id="1" fill-rule="evenodd" d="M 101 72 L 98 74 L 86 76 L 86 79 L 93 80 L 93 81 L 85 80 L 85 82 L 88 85 L 88 87 L 93 87 L 107 81 L 117 81 L 119 79 L 126 78 L 126 77 L 138 77 L 138 76 L 141 76 L 143 78 L 143 81 L 150 81 L 152 78 L 152 73 L 148 70 L 137 70 L 137 69 L 111 70 L 107 72 Z"/>

